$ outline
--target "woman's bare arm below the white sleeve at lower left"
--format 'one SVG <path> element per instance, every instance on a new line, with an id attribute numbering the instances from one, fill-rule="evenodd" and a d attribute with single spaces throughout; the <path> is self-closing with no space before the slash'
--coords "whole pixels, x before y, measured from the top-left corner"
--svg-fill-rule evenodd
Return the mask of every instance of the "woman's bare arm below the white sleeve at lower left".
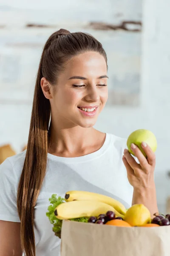
<path id="1" fill-rule="evenodd" d="M 0 256 L 22 256 L 20 223 L 0 221 Z"/>

